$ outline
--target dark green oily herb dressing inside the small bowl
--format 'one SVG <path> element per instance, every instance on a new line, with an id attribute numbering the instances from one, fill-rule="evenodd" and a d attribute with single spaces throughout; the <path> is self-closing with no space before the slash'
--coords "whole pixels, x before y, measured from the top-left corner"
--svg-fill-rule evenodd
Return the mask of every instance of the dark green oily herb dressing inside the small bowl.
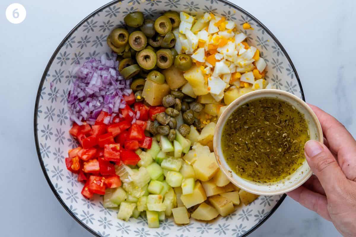
<path id="1" fill-rule="evenodd" d="M 309 139 L 304 115 L 294 106 L 275 98 L 259 98 L 230 115 L 221 144 L 232 171 L 268 183 L 286 178 L 302 165 Z"/>

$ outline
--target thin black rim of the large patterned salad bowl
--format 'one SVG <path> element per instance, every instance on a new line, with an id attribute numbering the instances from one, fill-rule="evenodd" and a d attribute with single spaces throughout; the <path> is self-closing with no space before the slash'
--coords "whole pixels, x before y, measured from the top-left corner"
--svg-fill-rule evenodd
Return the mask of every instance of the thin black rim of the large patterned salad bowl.
<path id="1" fill-rule="evenodd" d="M 122 1 L 125 1 L 125 0 L 122 0 Z M 122 2 L 121 1 L 121 2 Z M 235 10 L 237 11 L 240 11 L 242 12 L 243 14 L 247 15 L 248 17 L 250 17 L 253 21 L 255 21 L 256 23 L 258 23 L 258 25 L 261 26 L 261 28 L 263 28 L 267 34 L 269 34 L 269 36 L 272 37 L 272 39 L 278 44 L 279 48 L 282 50 L 284 56 L 286 56 L 286 58 L 288 59 L 289 61 L 289 64 L 290 66 L 292 67 L 294 73 L 295 73 L 295 77 L 297 78 L 298 80 L 298 84 L 299 84 L 299 88 L 300 88 L 300 93 L 302 94 L 302 99 L 303 101 L 305 101 L 305 97 L 304 97 L 304 92 L 303 92 L 303 87 L 302 87 L 302 83 L 300 82 L 300 79 L 299 79 L 299 76 L 298 76 L 298 73 L 297 73 L 297 70 L 295 70 L 295 67 L 292 63 L 292 60 L 290 59 L 288 53 L 286 52 L 286 49 L 284 49 L 284 47 L 282 46 L 282 44 L 278 41 L 278 39 L 272 34 L 271 31 L 269 31 L 269 29 L 263 25 L 259 20 L 257 20 L 256 17 L 252 16 L 250 13 L 248 13 L 247 11 L 245 11 L 244 9 L 242 9 L 241 7 L 229 2 L 229 1 L 226 1 L 226 0 L 217 0 L 225 5 L 229 5 L 231 6 L 232 8 L 234 8 Z M 63 39 L 63 41 L 59 44 L 59 46 L 57 47 L 57 49 L 54 51 L 51 59 L 49 59 L 48 61 L 48 64 L 46 66 L 46 69 L 45 71 L 43 72 L 43 75 L 42 75 L 42 79 L 41 79 L 41 82 L 40 82 L 40 85 L 38 86 L 38 91 L 37 91 L 37 96 L 36 96 L 36 103 L 35 103 L 35 114 L 34 114 L 34 124 L 33 124 L 33 127 L 34 127 L 34 132 L 35 132 L 35 143 L 36 143 L 36 150 L 37 150 L 37 156 L 38 156 L 38 160 L 40 161 L 40 165 L 41 165 L 41 168 L 42 168 L 42 171 L 43 171 L 43 174 L 45 175 L 46 177 L 46 180 L 47 180 L 47 183 L 49 185 L 49 187 L 51 187 L 52 189 L 52 192 L 54 194 L 54 196 L 56 196 L 56 198 L 58 199 L 59 203 L 61 203 L 61 205 L 63 206 L 64 209 L 66 209 L 66 211 L 69 213 L 69 215 L 71 215 L 74 220 L 76 220 L 81 226 L 83 226 L 86 230 L 88 230 L 90 233 L 92 233 L 93 235 L 95 236 L 98 236 L 98 237 L 101 237 L 97 232 L 95 232 L 93 229 L 91 229 L 89 226 L 85 225 L 84 222 L 82 222 L 77 216 L 75 216 L 73 214 L 73 212 L 68 208 L 68 206 L 64 203 L 64 201 L 62 200 L 62 198 L 58 195 L 56 189 L 54 188 L 51 180 L 49 179 L 49 176 L 46 172 L 46 168 L 45 168 L 45 164 L 43 163 L 42 161 L 42 158 L 41 158 L 41 152 L 40 152 L 40 145 L 39 145 L 39 142 L 38 142 L 38 136 L 37 136 L 37 113 L 38 113 L 38 103 L 40 102 L 40 96 L 41 96 L 41 90 L 42 90 L 42 86 L 43 86 L 43 83 L 45 82 L 46 80 L 46 75 L 47 75 L 47 72 L 49 70 L 49 68 L 51 67 L 52 63 L 53 63 L 53 60 L 54 58 L 56 57 L 56 55 L 58 54 L 59 50 L 61 50 L 61 48 L 63 47 L 63 45 L 66 43 L 66 41 L 68 40 L 68 38 L 70 36 L 72 36 L 72 34 L 80 27 L 82 26 L 85 22 L 87 22 L 89 20 L 89 18 L 93 17 L 94 15 L 98 14 L 98 12 L 104 10 L 105 8 L 111 6 L 111 5 L 114 5 L 116 3 L 120 2 L 119 0 L 115 0 L 115 1 L 111 1 L 109 2 L 108 4 L 105 4 L 104 6 L 101 6 L 99 9 L 95 10 L 94 12 L 92 12 L 90 15 L 88 15 L 87 17 L 85 17 L 82 21 L 80 21 L 78 23 L 77 26 L 75 26 L 68 34 L 67 36 Z M 274 211 L 277 210 L 277 208 L 282 204 L 283 200 L 286 198 L 286 194 L 283 194 L 283 196 L 278 200 L 277 204 L 272 208 L 271 211 L 269 211 L 268 215 L 266 215 L 260 222 L 258 222 L 255 226 L 253 226 L 249 231 L 247 231 L 246 233 L 244 233 L 241 237 L 246 237 L 248 235 L 250 235 L 253 231 L 255 231 L 258 227 L 260 227 L 273 213 Z"/>

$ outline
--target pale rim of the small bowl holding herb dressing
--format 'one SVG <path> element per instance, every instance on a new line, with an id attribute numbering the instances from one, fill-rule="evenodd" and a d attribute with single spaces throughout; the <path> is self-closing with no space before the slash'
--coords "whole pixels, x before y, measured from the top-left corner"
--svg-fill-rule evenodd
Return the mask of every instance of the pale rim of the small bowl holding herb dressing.
<path id="1" fill-rule="evenodd" d="M 258 194 L 258 195 L 267 195 L 267 196 L 273 196 L 273 195 L 279 195 L 283 193 L 290 192 L 296 188 L 298 188 L 300 185 L 305 183 L 310 176 L 312 176 L 313 172 L 311 169 L 309 169 L 308 172 L 302 172 L 302 175 L 296 182 L 292 182 L 292 184 L 287 187 L 287 188 L 281 188 L 277 190 L 267 190 L 263 191 L 259 187 L 260 185 L 251 183 L 249 185 L 247 184 L 242 184 L 240 182 L 240 179 L 243 179 L 237 175 L 240 179 L 235 179 L 233 176 L 230 174 L 231 168 L 225 163 L 222 163 L 221 160 L 226 160 L 224 156 L 221 156 L 223 153 L 221 149 L 221 135 L 223 133 L 224 126 L 226 124 L 226 121 L 229 119 L 229 116 L 231 113 L 233 113 L 238 107 L 242 106 L 245 103 L 248 103 L 252 100 L 258 99 L 258 98 L 276 98 L 276 96 L 279 96 L 279 100 L 281 101 L 288 101 L 288 99 L 296 102 L 298 104 L 298 107 L 301 107 L 304 109 L 304 114 L 309 115 L 311 120 L 315 124 L 315 130 L 316 134 L 318 135 L 318 141 L 323 143 L 323 131 L 321 129 L 320 122 L 318 120 L 318 117 L 316 117 L 316 114 L 313 112 L 312 108 L 308 106 L 307 103 L 305 103 L 302 99 L 299 97 L 293 95 L 292 93 L 289 93 L 287 91 L 282 91 L 282 90 L 276 90 L 276 89 L 264 89 L 264 90 L 256 90 L 252 91 L 250 93 L 247 93 L 243 96 L 240 96 L 239 98 L 235 99 L 233 102 L 231 102 L 224 112 L 220 115 L 220 118 L 218 122 L 216 123 L 216 129 L 214 133 L 214 141 L 213 141 L 213 146 L 214 146 L 214 154 L 216 161 L 218 162 L 218 165 L 220 169 L 225 173 L 225 175 L 229 178 L 229 180 L 238 186 L 241 189 L 246 190 L 247 192 Z M 301 112 L 302 113 L 302 112 Z M 220 136 L 219 136 L 220 135 Z M 297 171 L 295 171 L 297 172 Z M 294 173 L 295 173 L 294 172 Z M 271 184 L 276 185 L 278 182 L 273 182 Z M 278 186 L 278 185 L 277 185 Z M 279 186 L 278 186 L 279 188 Z"/>

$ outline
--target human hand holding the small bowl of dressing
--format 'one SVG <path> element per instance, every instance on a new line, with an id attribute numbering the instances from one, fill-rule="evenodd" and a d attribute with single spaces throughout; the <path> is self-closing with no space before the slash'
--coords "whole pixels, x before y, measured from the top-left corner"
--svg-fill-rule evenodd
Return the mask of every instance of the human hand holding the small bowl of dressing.
<path id="1" fill-rule="evenodd" d="M 330 114 L 310 104 L 324 133 L 324 144 L 310 140 L 304 155 L 313 176 L 288 196 L 332 221 L 345 237 L 356 236 L 356 141 Z"/>

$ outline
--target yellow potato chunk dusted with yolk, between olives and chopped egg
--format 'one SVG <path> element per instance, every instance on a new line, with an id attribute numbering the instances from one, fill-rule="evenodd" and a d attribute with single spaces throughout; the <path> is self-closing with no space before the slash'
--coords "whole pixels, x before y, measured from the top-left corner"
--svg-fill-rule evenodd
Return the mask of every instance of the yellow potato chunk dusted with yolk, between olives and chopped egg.
<path id="1" fill-rule="evenodd" d="M 184 78 L 193 87 L 194 94 L 197 96 L 209 93 L 208 85 L 205 83 L 203 71 L 198 66 L 192 66 L 184 73 Z"/>

